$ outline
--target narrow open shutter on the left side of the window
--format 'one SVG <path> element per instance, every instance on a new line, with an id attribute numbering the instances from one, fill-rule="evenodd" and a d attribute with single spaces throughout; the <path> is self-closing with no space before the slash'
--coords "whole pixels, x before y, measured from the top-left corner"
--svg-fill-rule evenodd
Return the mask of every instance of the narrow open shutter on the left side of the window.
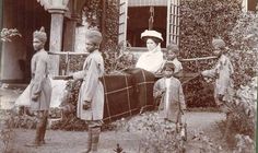
<path id="1" fill-rule="evenodd" d="M 118 43 L 125 42 L 127 38 L 127 10 L 128 1 L 119 1 L 119 30 L 118 30 Z"/>

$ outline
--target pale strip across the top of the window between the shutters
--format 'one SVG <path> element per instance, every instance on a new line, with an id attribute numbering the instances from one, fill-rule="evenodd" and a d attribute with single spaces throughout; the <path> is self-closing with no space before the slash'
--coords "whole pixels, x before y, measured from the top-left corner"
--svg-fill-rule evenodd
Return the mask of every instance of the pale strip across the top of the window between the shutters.
<path id="1" fill-rule="evenodd" d="M 166 7 L 167 0 L 128 0 L 128 7 Z"/>

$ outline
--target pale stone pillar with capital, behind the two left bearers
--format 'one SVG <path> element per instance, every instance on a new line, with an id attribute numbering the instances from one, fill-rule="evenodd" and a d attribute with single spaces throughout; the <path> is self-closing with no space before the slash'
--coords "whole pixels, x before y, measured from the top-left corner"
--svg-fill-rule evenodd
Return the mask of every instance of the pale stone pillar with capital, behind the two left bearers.
<path id="1" fill-rule="evenodd" d="M 62 47 L 63 13 L 66 10 L 49 9 L 51 13 L 49 51 L 60 52 Z M 59 74 L 59 56 L 50 56 L 50 75 Z"/>

